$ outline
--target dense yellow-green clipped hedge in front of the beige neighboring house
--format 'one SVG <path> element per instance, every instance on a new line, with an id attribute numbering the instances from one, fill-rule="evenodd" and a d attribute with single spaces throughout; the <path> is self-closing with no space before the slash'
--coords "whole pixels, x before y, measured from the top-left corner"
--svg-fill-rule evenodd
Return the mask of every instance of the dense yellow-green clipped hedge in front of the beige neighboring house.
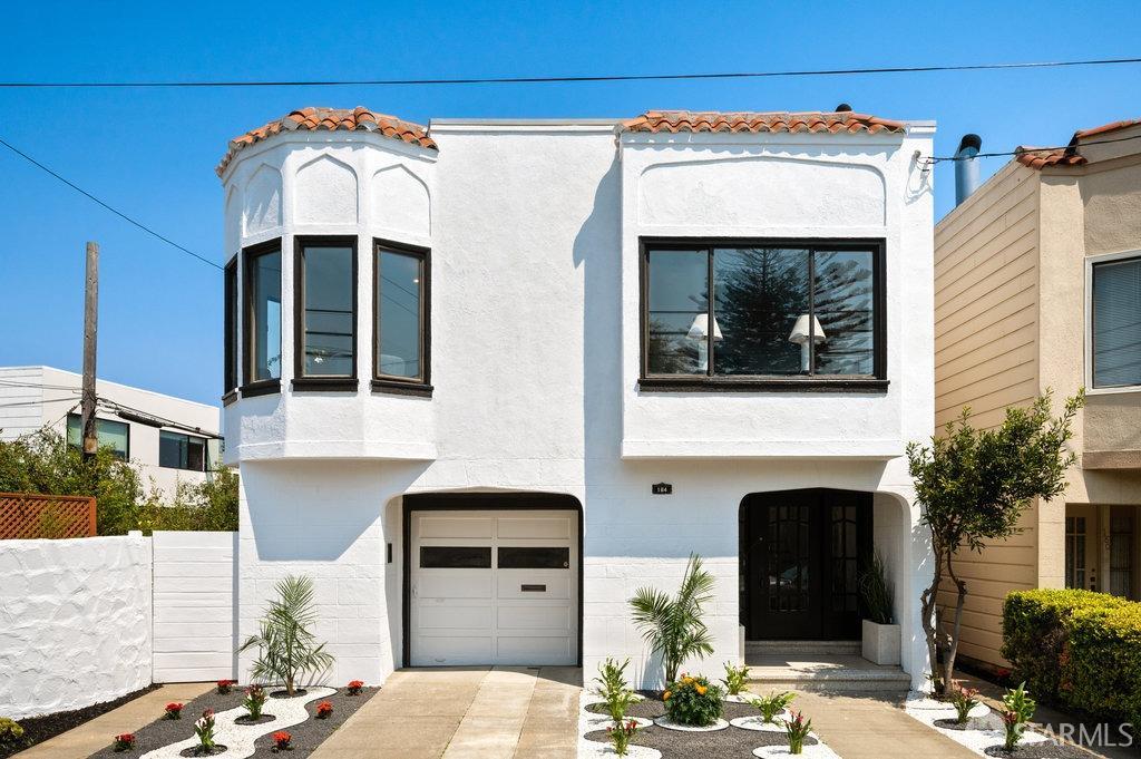
<path id="1" fill-rule="evenodd" d="M 1141 604 L 1089 590 L 1012 592 L 1002 655 L 1036 699 L 1141 724 Z"/>

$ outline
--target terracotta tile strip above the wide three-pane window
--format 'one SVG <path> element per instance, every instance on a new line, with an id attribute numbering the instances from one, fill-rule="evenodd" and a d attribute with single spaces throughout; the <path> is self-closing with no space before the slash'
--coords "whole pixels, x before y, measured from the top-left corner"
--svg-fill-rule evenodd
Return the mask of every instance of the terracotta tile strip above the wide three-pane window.
<path id="1" fill-rule="evenodd" d="M 866 113 L 836 111 L 832 113 L 806 112 L 693 112 L 647 111 L 637 119 L 622 122 L 621 131 L 647 132 L 903 132 L 903 121 L 889 121 Z"/>

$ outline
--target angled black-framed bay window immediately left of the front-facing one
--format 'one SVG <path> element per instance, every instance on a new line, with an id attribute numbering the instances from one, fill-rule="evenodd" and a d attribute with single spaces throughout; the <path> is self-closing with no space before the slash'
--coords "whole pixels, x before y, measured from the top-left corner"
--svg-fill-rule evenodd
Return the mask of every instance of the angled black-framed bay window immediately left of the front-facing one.
<path id="1" fill-rule="evenodd" d="M 243 256 L 245 385 L 269 385 L 282 376 L 281 241 L 246 248 Z"/>

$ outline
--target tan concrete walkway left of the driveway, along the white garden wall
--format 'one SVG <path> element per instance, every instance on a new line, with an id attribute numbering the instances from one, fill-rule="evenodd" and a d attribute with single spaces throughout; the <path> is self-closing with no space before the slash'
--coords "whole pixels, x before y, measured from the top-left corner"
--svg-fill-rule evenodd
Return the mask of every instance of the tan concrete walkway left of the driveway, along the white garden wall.
<path id="1" fill-rule="evenodd" d="M 89 757 L 112 743 L 112 738 L 123 733 L 133 733 L 165 713 L 171 701 L 186 703 L 211 691 L 213 683 L 171 683 L 144 694 L 122 706 L 99 714 L 54 738 L 21 751 L 19 759 L 75 759 Z"/>

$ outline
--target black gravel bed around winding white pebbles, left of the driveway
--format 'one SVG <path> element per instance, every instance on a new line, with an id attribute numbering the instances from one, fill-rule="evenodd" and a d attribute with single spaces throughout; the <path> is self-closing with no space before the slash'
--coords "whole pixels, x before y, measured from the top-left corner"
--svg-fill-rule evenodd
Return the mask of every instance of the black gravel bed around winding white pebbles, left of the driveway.
<path id="1" fill-rule="evenodd" d="M 300 725 L 282 728 L 293 736 L 293 749 L 289 752 L 289 756 L 308 757 L 318 745 L 322 744 L 322 742 L 332 735 L 333 730 L 340 727 L 345 720 L 353 714 L 353 712 L 359 709 L 366 701 L 372 699 L 379 689 L 380 688 L 363 688 L 359 695 L 350 696 L 345 693 L 343 688 L 340 688 L 331 696 L 314 699 L 307 703 L 305 708 L 309 712 L 309 719 L 305 720 Z M 264 706 L 264 721 L 272 721 L 265 720 L 265 717 L 272 714 L 274 711 L 274 697 L 276 696 L 270 694 L 270 700 L 267 701 Z M 121 752 L 115 751 L 114 746 L 111 745 L 112 736 L 108 735 L 107 746 L 96 753 L 92 753 L 90 759 L 126 759 L 128 757 L 141 757 L 147 751 L 153 751 L 161 746 L 194 737 L 194 720 L 199 719 L 204 710 L 213 709 L 216 712 L 226 711 L 227 709 L 241 706 L 243 701 L 245 701 L 245 694 L 242 693 L 241 688 L 234 688 L 230 693 L 225 695 L 219 694 L 217 691 L 210 691 L 210 693 L 203 694 L 194 701 L 188 702 L 183 708 L 181 719 L 165 719 L 160 714 L 155 721 L 141 729 L 136 730 L 133 750 Z M 317 719 L 317 704 L 323 701 L 327 701 L 333 704 L 333 713 L 325 719 Z M 262 720 L 259 720 L 259 724 Z M 269 734 L 257 740 L 253 753 L 256 758 L 268 759 L 269 757 L 277 756 L 277 752 L 274 751 L 274 740 L 272 737 L 275 732 L 276 730 L 272 730 Z M 217 756 L 225 758 L 226 753 L 222 752 Z"/>

